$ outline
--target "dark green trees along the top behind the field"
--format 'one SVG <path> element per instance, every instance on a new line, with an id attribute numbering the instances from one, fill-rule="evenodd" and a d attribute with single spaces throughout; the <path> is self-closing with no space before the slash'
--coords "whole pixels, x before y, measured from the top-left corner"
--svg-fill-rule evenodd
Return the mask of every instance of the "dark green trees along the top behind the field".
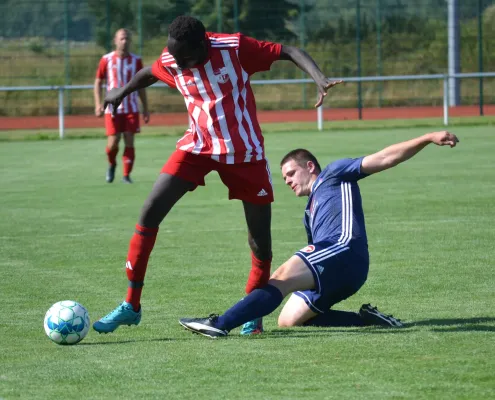
<path id="1" fill-rule="evenodd" d="M 359 28 L 365 39 L 380 30 L 384 35 L 419 33 L 446 24 L 446 0 L 0 0 L 0 36 L 43 37 L 109 44 L 120 27 L 143 40 L 166 36 L 177 15 L 200 18 L 208 30 L 239 30 L 266 40 L 354 41 Z M 459 0 L 461 20 L 476 17 L 478 0 Z M 483 10 L 495 0 L 483 0 Z M 357 8 L 359 7 L 359 21 Z M 237 9 L 236 15 L 234 11 Z M 68 19 L 66 20 L 66 17 Z M 140 20 L 139 20 L 140 18 Z M 434 27 L 434 26 L 433 26 Z"/>

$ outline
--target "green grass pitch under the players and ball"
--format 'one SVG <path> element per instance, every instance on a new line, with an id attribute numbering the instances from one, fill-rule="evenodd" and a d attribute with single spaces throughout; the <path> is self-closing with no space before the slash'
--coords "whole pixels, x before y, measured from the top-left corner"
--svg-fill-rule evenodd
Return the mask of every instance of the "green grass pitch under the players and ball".
<path id="1" fill-rule="evenodd" d="M 274 265 L 305 245 L 305 201 L 283 185 L 283 154 L 304 146 L 327 163 L 424 130 L 267 134 Z M 249 270 L 242 206 L 212 174 L 161 226 L 141 325 L 67 347 L 45 336 L 46 310 L 77 300 L 94 321 L 122 301 L 128 240 L 176 138 L 138 138 L 134 185 L 104 183 L 103 137 L 0 143 L 0 398 L 494 398 L 494 132 L 453 131 L 457 148 L 430 146 L 360 184 L 370 275 L 336 308 L 371 302 L 406 328 L 280 329 L 275 312 L 255 338 L 181 329 L 178 318 L 241 298 Z"/>

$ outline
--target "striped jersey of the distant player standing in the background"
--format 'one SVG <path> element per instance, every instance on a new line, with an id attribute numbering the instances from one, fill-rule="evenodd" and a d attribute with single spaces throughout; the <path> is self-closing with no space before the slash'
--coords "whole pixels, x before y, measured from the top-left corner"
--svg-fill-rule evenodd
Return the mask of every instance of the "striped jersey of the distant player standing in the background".
<path id="1" fill-rule="evenodd" d="M 136 73 L 143 68 L 141 57 L 129 53 L 127 57 L 119 57 L 115 51 L 105 54 L 101 60 L 96 77 L 107 82 L 107 91 L 125 86 Z M 105 110 L 106 114 L 112 112 L 112 106 Z M 124 100 L 117 109 L 117 114 L 131 114 L 139 112 L 138 92 L 133 92 Z"/>

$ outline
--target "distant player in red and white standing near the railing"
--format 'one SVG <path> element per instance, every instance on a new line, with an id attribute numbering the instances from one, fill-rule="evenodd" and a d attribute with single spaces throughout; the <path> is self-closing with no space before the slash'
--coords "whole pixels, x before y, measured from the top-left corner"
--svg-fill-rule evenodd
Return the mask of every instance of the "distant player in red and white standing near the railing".
<path id="1" fill-rule="evenodd" d="M 131 93 L 127 96 L 117 111 L 113 113 L 112 106 L 106 109 L 101 101 L 101 81 L 106 81 L 107 91 L 125 86 L 138 71 L 143 68 L 141 57 L 129 52 L 131 44 L 131 34 L 127 29 L 119 29 L 114 38 L 115 51 L 105 54 L 96 71 L 94 85 L 95 115 L 97 117 L 105 114 L 105 128 L 107 133 L 106 153 L 108 157 L 107 182 L 113 182 L 115 178 L 115 168 L 117 167 L 117 154 L 119 152 L 119 142 L 124 135 L 124 155 L 122 156 L 123 179 L 125 183 L 132 183 L 130 174 L 135 160 L 134 134 L 139 132 L 139 107 L 138 93 L 143 105 L 144 122 L 148 123 L 150 115 L 148 112 L 148 102 L 146 92 L 140 89 L 138 93 Z M 114 115 L 112 115 L 114 114 Z"/>

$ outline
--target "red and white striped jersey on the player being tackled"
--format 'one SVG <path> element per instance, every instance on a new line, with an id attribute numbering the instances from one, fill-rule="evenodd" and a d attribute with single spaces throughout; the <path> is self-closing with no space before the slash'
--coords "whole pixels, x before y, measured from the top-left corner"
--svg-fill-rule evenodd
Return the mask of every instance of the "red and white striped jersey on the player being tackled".
<path id="1" fill-rule="evenodd" d="M 164 49 L 152 74 L 184 96 L 190 126 L 177 149 L 226 164 L 265 157 L 263 136 L 249 78 L 267 71 L 282 46 L 236 34 L 207 33 L 208 58 L 181 69 Z"/>

